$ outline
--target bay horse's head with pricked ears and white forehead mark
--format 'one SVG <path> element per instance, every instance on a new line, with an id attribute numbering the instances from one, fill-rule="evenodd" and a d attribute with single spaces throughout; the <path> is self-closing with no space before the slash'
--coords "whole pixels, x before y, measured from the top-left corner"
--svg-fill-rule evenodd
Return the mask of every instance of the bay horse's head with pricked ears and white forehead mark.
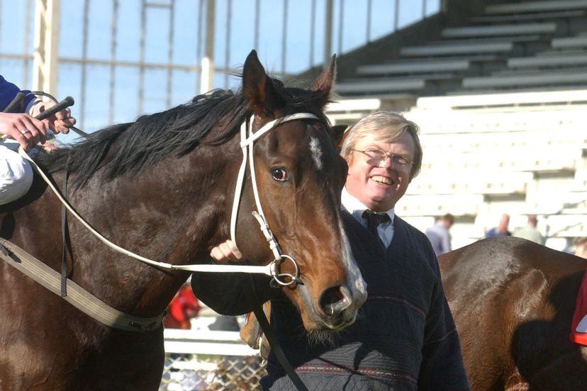
<path id="1" fill-rule="evenodd" d="M 337 140 L 332 139 L 323 115 L 334 76 L 332 57 L 330 67 L 309 90 L 285 88 L 267 76 L 255 51 L 247 57 L 242 74 L 242 94 L 254 115 L 252 131 L 276 120 L 252 147 L 254 171 L 267 223 L 281 250 L 293 258 L 281 262 L 280 271 L 296 276 L 298 267 L 299 278 L 286 278 L 282 289 L 300 310 L 308 330 L 346 327 L 366 299 L 340 212 L 347 164 L 337 153 Z M 280 122 L 296 113 L 315 118 Z M 274 254 L 264 244 L 251 212 L 240 212 L 237 246 L 247 259 L 266 264 Z"/>

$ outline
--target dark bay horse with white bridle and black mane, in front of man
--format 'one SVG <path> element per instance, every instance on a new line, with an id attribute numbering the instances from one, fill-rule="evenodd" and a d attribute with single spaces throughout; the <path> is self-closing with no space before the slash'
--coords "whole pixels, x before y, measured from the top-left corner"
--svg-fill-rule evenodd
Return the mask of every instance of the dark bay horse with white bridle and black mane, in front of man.
<path id="1" fill-rule="evenodd" d="M 242 150 L 241 123 L 253 130 L 284 115 L 311 113 L 274 125 L 252 147 L 260 202 L 300 277 L 283 288 L 307 329 L 350 324 L 365 300 L 342 227 L 340 191 L 346 164 L 323 114 L 335 57 L 310 89 L 286 87 L 267 76 L 255 51 L 245 61 L 240 93 L 213 91 L 133 123 L 113 125 L 82 142 L 41 154 L 39 165 L 61 185 L 89 225 L 118 246 L 149 259 L 209 263 L 211 246 L 229 236 Z M 67 174 L 66 173 L 67 170 Z M 251 172 L 247 169 L 249 177 Z M 246 259 L 269 264 L 245 182 L 236 225 Z M 0 208 L 0 236 L 55 271 L 62 265 L 60 210 L 35 175 L 21 200 Z M 71 216 L 69 216 L 71 217 Z M 135 317 L 162 314 L 186 280 L 109 249 L 69 218 L 67 278 L 99 300 Z M 293 273 L 284 262 L 284 273 Z M 163 327 L 108 327 L 0 259 L 1 390 L 157 390 L 164 364 Z"/>

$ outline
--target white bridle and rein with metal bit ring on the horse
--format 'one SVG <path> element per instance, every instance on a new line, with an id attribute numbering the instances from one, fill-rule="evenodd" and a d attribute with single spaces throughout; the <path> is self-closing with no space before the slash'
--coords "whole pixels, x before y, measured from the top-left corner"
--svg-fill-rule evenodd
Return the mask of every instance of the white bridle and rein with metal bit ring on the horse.
<path id="1" fill-rule="evenodd" d="M 284 117 L 277 118 L 276 120 L 272 120 L 269 123 L 263 125 L 262 128 L 260 128 L 256 132 L 252 132 L 252 129 L 251 129 L 253 119 L 254 119 L 254 117 L 245 119 L 243 121 L 242 125 L 240 126 L 240 139 L 241 139 L 240 147 L 242 149 L 242 163 L 240 165 L 240 170 L 239 170 L 239 173 L 237 176 L 237 183 L 236 183 L 236 188 L 235 188 L 235 198 L 234 198 L 234 202 L 233 202 L 233 211 L 230 216 L 230 237 L 233 239 L 233 242 L 236 244 L 236 241 L 235 241 L 236 222 L 237 222 L 237 216 L 238 216 L 240 196 L 242 195 L 242 186 L 244 184 L 245 171 L 246 171 L 247 161 L 248 161 L 249 166 L 250 166 L 253 193 L 255 194 L 255 203 L 257 205 L 257 211 L 253 211 L 252 215 L 259 222 L 260 229 L 261 229 L 265 239 L 267 239 L 267 242 L 269 243 L 269 248 L 272 250 L 272 252 L 274 254 L 274 260 L 266 266 L 225 265 L 225 264 L 223 264 L 223 265 L 219 265 L 219 264 L 173 265 L 172 263 L 153 261 L 152 259 L 148 259 L 148 258 L 145 258 L 144 256 L 140 256 L 138 254 L 135 254 L 132 251 L 128 251 L 127 249 L 124 249 L 123 247 L 118 246 L 117 244 L 114 244 L 110 240 L 106 239 L 106 237 L 104 237 L 104 235 L 102 235 L 100 232 L 96 231 L 96 229 L 94 229 L 94 227 L 91 227 L 91 225 L 88 222 L 86 222 L 86 220 L 84 220 L 84 218 L 81 215 L 79 215 L 79 213 L 77 213 L 77 211 L 72 207 L 72 205 L 69 204 L 69 202 L 65 199 L 65 197 L 62 195 L 62 193 L 59 190 L 57 190 L 57 188 L 55 188 L 52 181 L 50 181 L 50 179 L 47 177 L 47 175 L 45 175 L 45 173 L 43 173 L 43 170 L 41 170 L 39 168 L 39 166 L 33 161 L 33 159 L 31 159 L 28 156 L 28 154 L 24 151 L 24 149 L 19 148 L 18 153 L 21 154 L 21 156 L 23 158 L 27 159 L 28 162 L 30 162 L 30 164 L 33 166 L 35 171 L 37 171 L 37 173 L 43 178 L 43 180 L 45 180 L 45 182 L 47 183 L 47 186 L 49 186 L 51 188 L 53 193 L 55 193 L 55 196 L 57 196 L 57 198 L 65 206 L 65 208 L 67 208 L 67 210 L 69 210 L 69 212 L 74 217 L 76 217 L 77 220 L 79 220 L 79 222 L 81 222 L 82 225 L 84 225 L 84 227 L 86 227 L 86 229 L 88 229 L 92 234 L 94 234 L 94 236 L 96 236 L 98 239 L 100 239 L 101 242 L 104 242 L 104 244 L 111 247 L 111 249 L 114 249 L 115 251 L 118 251 L 121 254 L 125 254 L 127 256 L 130 256 L 131 258 L 137 259 L 138 261 L 141 261 L 142 263 L 146 263 L 147 265 L 155 266 L 157 268 L 162 268 L 162 269 L 166 269 L 166 270 L 172 270 L 172 271 L 178 270 L 178 271 L 199 271 L 199 272 L 216 272 L 216 273 L 218 273 L 218 272 L 223 272 L 223 273 L 235 273 L 235 272 L 262 273 L 262 274 L 266 274 L 267 276 L 271 276 L 273 278 L 272 283 L 274 286 L 279 286 L 279 285 L 289 286 L 294 283 L 301 282 L 301 280 L 299 278 L 300 271 L 299 271 L 298 263 L 296 262 L 295 259 L 293 259 L 293 257 L 281 253 L 281 248 L 279 247 L 279 244 L 277 243 L 277 240 L 274 237 L 273 232 L 271 231 L 271 229 L 269 229 L 269 223 L 267 222 L 267 218 L 264 215 L 264 212 L 263 212 L 263 209 L 261 206 L 261 201 L 259 199 L 259 190 L 257 188 L 257 179 L 255 177 L 255 163 L 254 163 L 254 159 L 253 159 L 253 146 L 255 145 L 255 141 L 257 139 L 259 139 L 259 137 L 261 137 L 262 135 L 264 135 L 267 132 L 270 132 L 271 130 L 274 130 L 275 128 L 279 127 L 279 125 L 282 125 L 284 123 L 287 123 L 287 122 L 290 122 L 293 120 L 301 120 L 301 119 L 319 120 L 319 118 L 316 115 L 311 114 L 311 113 L 296 113 L 296 114 L 291 114 L 291 115 L 285 115 Z M 290 261 L 293 264 L 293 267 L 294 267 L 293 274 L 281 273 L 280 266 L 281 266 L 281 263 L 284 261 L 284 259 Z"/>

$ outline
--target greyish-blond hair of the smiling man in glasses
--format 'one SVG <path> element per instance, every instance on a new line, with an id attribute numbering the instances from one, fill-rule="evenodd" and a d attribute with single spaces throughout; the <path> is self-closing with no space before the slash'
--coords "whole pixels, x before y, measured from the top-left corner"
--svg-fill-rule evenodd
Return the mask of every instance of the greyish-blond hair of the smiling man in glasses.
<path id="1" fill-rule="evenodd" d="M 414 159 L 410 169 L 410 180 L 420 173 L 422 167 L 422 145 L 420 145 L 420 128 L 400 113 L 393 111 L 377 111 L 359 120 L 347 130 L 340 154 L 347 162 L 351 162 L 352 152 L 359 140 L 364 137 L 374 137 L 376 141 L 394 142 L 408 132 L 415 145 Z"/>

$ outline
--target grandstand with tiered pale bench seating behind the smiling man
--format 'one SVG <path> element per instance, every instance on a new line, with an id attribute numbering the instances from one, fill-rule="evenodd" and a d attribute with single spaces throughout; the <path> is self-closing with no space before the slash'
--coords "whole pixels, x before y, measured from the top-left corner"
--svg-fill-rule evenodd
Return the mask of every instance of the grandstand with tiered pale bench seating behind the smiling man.
<path id="1" fill-rule="evenodd" d="M 463 4 L 343 55 L 330 119 L 420 125 L 422 174 L 396 212 L 423 230 L 451 212 L 453 248 L 505 212 L 566 249 L 587 235 L 587 1 Z"/>

